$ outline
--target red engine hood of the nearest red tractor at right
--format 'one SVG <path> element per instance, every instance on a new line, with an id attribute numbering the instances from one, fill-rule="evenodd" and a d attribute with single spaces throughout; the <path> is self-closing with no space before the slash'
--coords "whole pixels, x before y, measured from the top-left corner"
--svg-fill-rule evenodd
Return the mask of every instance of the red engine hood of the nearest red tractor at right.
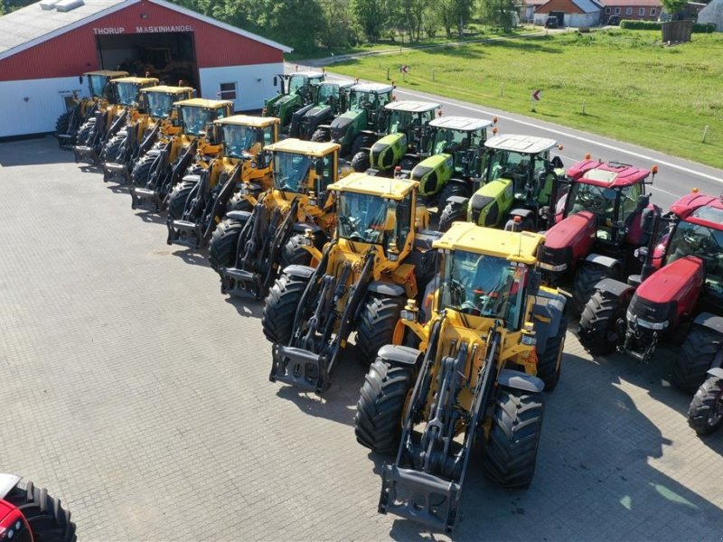
<path id="1" fill-rule="evenodd" d="M 664 304 L 674 300 L 681 309 L 692 308 L 704 279 L 703 261 L 698 257 L 687 256 L 655 271 L 638 286 L 635 295 L 652 303 Z"/>

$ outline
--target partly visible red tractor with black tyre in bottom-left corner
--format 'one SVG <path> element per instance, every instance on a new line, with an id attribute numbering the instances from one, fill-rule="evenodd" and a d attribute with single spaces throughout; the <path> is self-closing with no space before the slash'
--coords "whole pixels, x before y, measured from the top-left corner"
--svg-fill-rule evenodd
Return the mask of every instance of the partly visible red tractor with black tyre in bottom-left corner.
<path id="1" fill-rule="evenodd" d="M 0 540 L 3 542 L 75 542 L 75 523 L 61 500 L 21 481 L 0 474 Z"/>

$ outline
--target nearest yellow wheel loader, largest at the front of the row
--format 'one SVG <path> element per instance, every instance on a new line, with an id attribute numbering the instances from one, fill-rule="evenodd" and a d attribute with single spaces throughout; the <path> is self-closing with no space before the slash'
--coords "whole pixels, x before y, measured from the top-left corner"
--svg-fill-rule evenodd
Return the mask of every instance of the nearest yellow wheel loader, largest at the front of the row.
<path id="1" fill-rule="evenodd" d="M 434 242 L 424 311 L 413 299 L 401 311 L 354 418 L 362 445 L 396 452 L 382 469 L 381 513 L 451 532 L 475 453 L 503 487 L 530 485 L 542 391 L 558 381 L 566 332 L 565 297 L 541 285 L 543 242 L 463 222 Z"/>

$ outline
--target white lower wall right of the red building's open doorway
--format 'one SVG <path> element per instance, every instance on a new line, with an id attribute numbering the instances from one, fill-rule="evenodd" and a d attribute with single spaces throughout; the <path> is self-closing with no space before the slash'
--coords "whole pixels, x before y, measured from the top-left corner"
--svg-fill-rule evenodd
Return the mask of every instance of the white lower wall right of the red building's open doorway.
<path id="1" fill-rule="evenodd" d="M 201 75 L 202 98 L 218 99 L 221 83 L 235 82 L 236 101 L 234 108 L 237 111 L 243 111 L 260 109 L 264 106 L 264 99 L 271 98 L 277 93 L 277 88 L 274 87 L 274 76 L 284 73 L 284 64 L 278 62 L 250 66 L 202 68 L 199 73 Z"/>

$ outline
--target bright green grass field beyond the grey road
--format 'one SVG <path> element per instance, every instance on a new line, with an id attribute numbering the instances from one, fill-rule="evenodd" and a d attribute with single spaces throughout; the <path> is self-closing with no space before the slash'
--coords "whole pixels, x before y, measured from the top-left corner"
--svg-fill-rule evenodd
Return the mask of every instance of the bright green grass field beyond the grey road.
<path id="1" fill-rule="evenodd" d="M 574 126 L 721 168 L 723 33 L 693 34 L 692 42 L 671 47 L 659 42 L 660 35 L 569 32 L 402 51 L 332 69 L 384 80 L 389 68 L 400 88 Z M 401 64 L 410 66 L 406 82 Z M 542 90 L 542 99 L 531 111 L 535 89 Z"/>

